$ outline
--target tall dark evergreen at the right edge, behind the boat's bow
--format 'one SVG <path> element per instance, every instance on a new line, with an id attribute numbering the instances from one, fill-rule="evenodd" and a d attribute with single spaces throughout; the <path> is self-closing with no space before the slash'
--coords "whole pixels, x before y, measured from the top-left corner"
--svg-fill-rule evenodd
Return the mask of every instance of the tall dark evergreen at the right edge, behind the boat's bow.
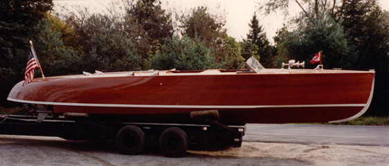
<path id="1" fill-rule="evenodd" d="M 377 84 L 367 114 L 389 115 L 389 13 L 375 1 L 352 1 L 341 10 L 341 20 L 351 43 L 358 51 L 354 69 L 376 71 Z M 346 10 L 348 9 L 348 10 Z M 350 10 L 352 12 L 350 12 Z M 363 15 L 361 15 L 363 13 Z"/>

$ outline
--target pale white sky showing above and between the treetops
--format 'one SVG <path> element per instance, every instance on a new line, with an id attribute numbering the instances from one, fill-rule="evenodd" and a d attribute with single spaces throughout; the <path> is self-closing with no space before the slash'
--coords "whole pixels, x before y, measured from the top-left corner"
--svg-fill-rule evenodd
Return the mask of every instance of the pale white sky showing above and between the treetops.
<path id="1" fill-rule="evenodd" d="M 226 28 L 227 33 L 231 37 L 237 39 L 237 41 L 242 41 L 242 37 L 246 39 L 246 34 L 248 33 L 248 23 L 253 17 L 254 12 L 257 11 L 257 2 L 261 2 L 263 0 L 161 0 L 162 8 L 177 8 L 178 10 L 186 10 L 190 8 L 196 8 L 197 6 L 207 6 L 210 10 L 217 10 L 217 6 L 219 6 L 219 10 L 217 12 L 226 14 Z M 389 11 L 389 0 L 378 0 L 381 4 L 381 8 Z M 71 5 L 80 5 L 90 8 L 91 10 L 96 10 L 97 12 L 104 10 L 102 7 L 102 3 L 108 3 L 109 1 L 105 0 L 64 0 L 57 1 L 54 0 L 55 10 L 58 4 L 62 6 L 71 6 Z M 300 8 L 298 6 L 291 6 L 291 12 L 300 12 Z M 284 22 L 284 17 L 282 14 L 280 15 L 268 15 L 264 17 L 260 13 L 257 12 L 257 19 L 260 20 L 260 26 L 264 28 L 266 32 L 266 36 L 269 39 L 269 42 L 273 42 L 273 37 L 275 36 L 275 32 L 282 27 L 282 23 Z"/>

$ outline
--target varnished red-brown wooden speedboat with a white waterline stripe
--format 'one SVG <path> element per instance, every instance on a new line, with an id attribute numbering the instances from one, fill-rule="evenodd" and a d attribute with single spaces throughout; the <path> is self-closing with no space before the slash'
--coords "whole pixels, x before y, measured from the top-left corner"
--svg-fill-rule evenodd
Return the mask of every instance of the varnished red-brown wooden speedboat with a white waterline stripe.
<path id="1" fill-rule="evenodd" d="M 8 100 L 53 105 L 54 113 L 132 122 L 190 123 L 192 111 L 217 110 L 219 122 L 339 122 L 361 116 L 374 71 L 266 69 L 131 71 L 35 78 L 14 86 Z"/>

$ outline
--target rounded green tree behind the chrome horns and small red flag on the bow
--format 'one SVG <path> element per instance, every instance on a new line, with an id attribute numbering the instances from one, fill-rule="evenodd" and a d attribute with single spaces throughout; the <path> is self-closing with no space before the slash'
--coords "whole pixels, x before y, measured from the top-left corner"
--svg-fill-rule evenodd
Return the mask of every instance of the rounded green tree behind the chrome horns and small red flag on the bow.
<path id="1" fill-rule="evenodd" d="M 341 24 L 326 16 L 305 20 L 314 21 L 315 26 L 302 26 L 293 32 L 279 33 L 277 58 L 289 57 L 287 59 L 309 62 L 316 53 L 323 51 L 325 68 L 351 69 L 356 60 L 356 52 L 348 44 Z M 308 68 L 314 66 L 316 64 L 307 63 Z"/>

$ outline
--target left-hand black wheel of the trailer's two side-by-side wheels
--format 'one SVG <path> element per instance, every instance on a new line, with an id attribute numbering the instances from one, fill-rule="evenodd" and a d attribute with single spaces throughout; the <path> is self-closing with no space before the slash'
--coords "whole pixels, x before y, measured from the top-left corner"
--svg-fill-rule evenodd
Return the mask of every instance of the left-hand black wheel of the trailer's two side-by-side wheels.
<path id="1" fill-rule="evenodd" d="M 116 147 L 123 154 L 139 154 L 145 147 L 145 133 L 136 126 L 125 126 L 116 135 Z"/>

